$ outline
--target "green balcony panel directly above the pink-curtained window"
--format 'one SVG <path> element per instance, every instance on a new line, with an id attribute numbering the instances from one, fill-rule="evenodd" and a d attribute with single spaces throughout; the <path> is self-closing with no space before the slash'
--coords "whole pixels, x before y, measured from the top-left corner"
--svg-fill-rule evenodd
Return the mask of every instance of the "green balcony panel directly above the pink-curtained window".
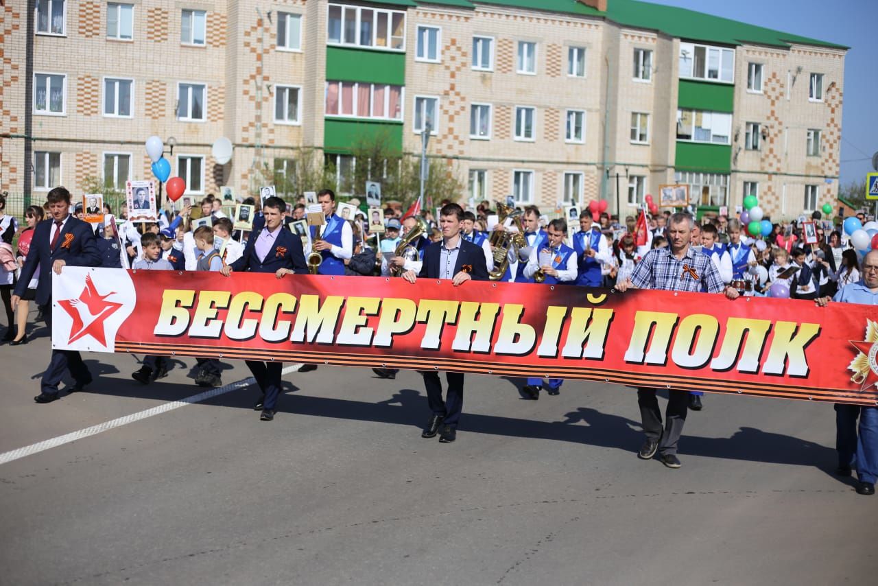
<path id="1" fill-rule="evenodd" d="M 327 79 L 406 84 L 406 54 L 327 47 Z"/>

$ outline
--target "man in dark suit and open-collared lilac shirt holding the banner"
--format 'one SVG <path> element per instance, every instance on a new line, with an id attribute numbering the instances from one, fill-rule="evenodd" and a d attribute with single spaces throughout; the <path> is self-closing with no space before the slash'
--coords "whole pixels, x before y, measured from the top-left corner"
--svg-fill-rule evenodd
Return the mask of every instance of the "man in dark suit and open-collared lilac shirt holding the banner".
<path id="1" fill-rule="evenodd" d="M 293 273 L 306 275 L 305 253 L 302 239 L 290 230 L 284 230 L 283 199 L 270 197 L 263 202 L 264 228 L 255 229 L 247 241 L 247 248 L 241 258 L 227 264 L 220 271 L 228 277 L 233 271 L 273 272 L 277 279 Z M 262 421 L 274 419 L 277 409 L 277 395 L 280 394 L 281 370 L 284 365 L 277 361 L 246 361 L 253 378 L 263 395 L 254 409 L 262 409 Z"/>

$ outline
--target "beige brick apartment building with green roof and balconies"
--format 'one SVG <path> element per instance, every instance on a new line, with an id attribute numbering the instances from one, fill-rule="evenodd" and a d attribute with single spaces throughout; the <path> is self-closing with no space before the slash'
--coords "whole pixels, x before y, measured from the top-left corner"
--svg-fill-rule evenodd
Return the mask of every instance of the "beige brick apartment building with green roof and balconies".
<path id="1" fill-rule="evenodd" d="M 634 0 L 29 5 L 2 7 L 0 189 L 34 198 L 151 177 L 151 134 L 198 195 L 305 152 L 341 174 L 371 136 L 418 153 L 428 124 L 461 199 L 627 214 L 681 183 L 780 218 L 838 194 L 846 47 L 795 34 Z"/>

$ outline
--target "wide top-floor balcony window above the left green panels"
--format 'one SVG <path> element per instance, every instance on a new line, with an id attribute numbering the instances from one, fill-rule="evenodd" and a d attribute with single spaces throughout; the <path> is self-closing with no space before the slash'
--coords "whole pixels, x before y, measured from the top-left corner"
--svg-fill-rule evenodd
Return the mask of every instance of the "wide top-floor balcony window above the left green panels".
<path id="1" fill-rule="evenodd" d="M 406 13 L 329 4 L 327 43 L 406 50 Z"/>

